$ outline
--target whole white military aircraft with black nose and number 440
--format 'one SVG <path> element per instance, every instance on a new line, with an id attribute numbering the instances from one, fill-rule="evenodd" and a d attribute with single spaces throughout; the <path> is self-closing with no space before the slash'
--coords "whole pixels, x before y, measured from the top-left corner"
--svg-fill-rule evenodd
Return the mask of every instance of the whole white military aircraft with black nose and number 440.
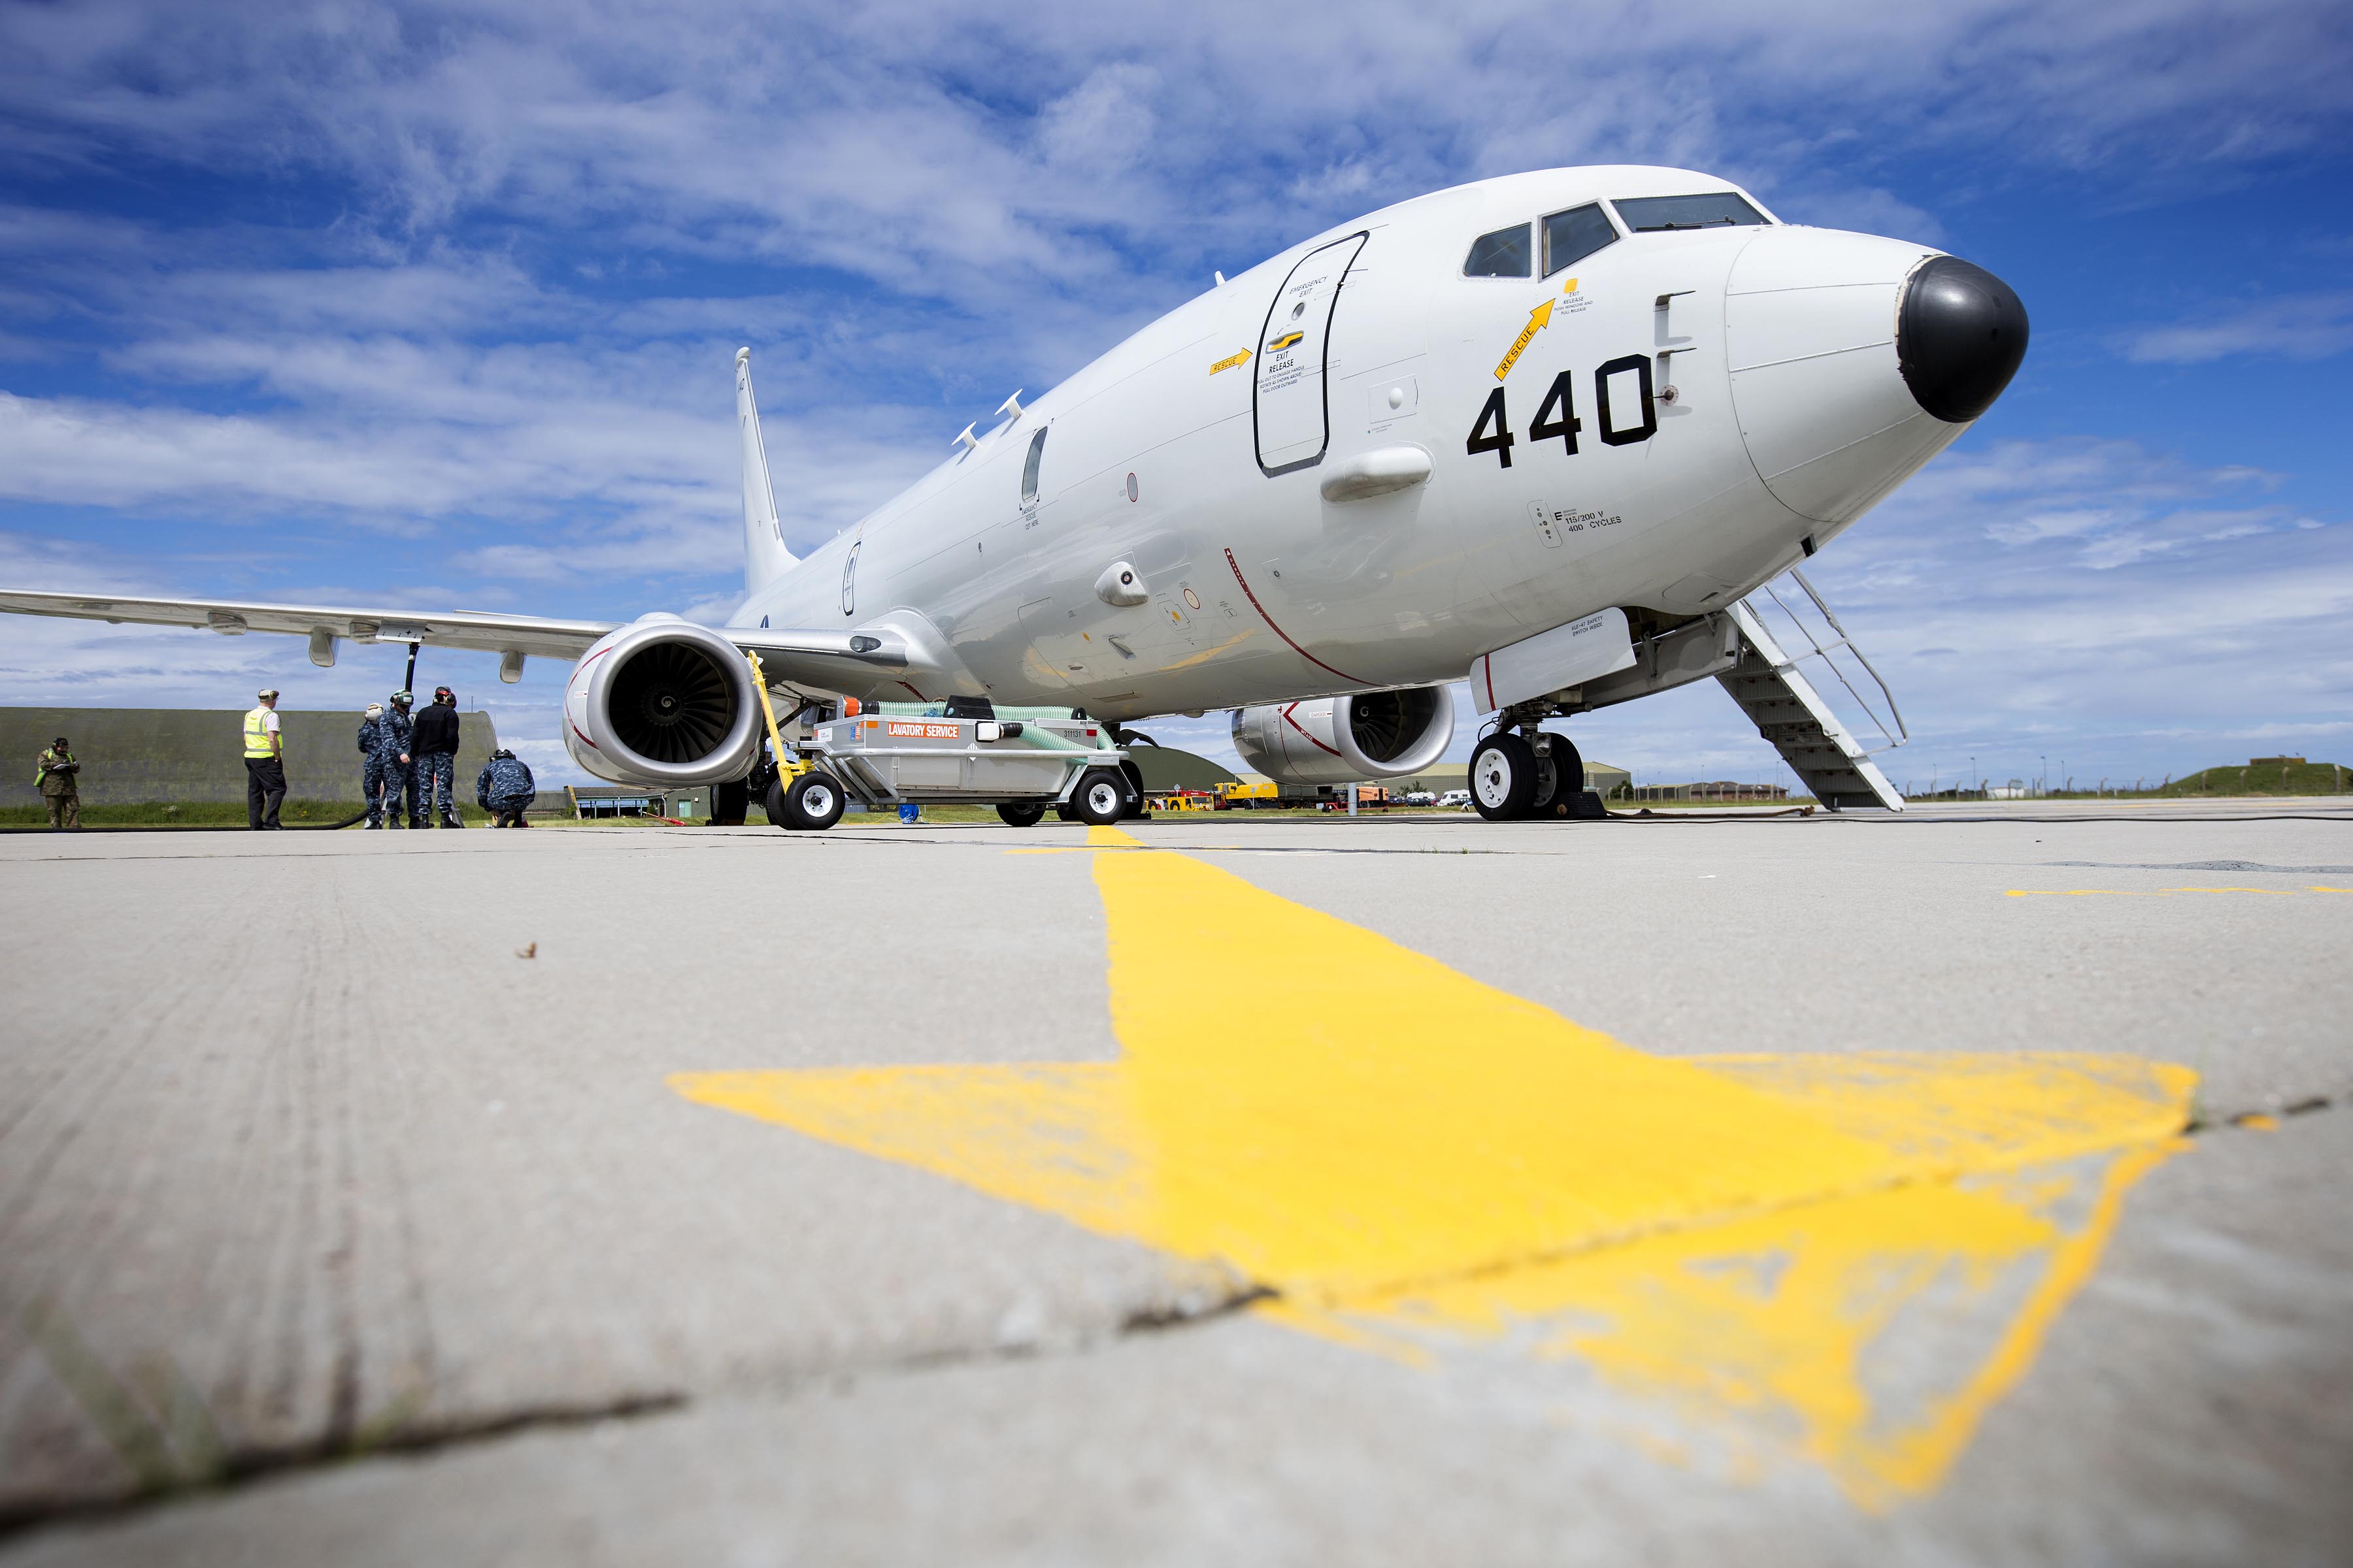
<path id="1" fill-rule="evenodd" d="M 1718 675 L 1722 614 L 2009 383 L 2026 310 L 1925 244 L 1781 223 L 1729 181 L 1581 167 L 1329 228 L 1141 329 L 805 559 L 736 353 L 746 597 L 727 625 L 0 592 L 0 609 L 576 661 L 565 745 L 739 790 L 788 701 L 1231 708 L 1280 780 L 1402 778 L 1489 733 L 1473 797 L 1581 778 L 1555 715 Z M 741 802 L 741 792 L 736 792 Z M 722 806 L 725 811 L 725 806 Z M 831 818 L 828 818 L 831 820 Z M 812 823 L 814 825 L 814 823 Z"/>

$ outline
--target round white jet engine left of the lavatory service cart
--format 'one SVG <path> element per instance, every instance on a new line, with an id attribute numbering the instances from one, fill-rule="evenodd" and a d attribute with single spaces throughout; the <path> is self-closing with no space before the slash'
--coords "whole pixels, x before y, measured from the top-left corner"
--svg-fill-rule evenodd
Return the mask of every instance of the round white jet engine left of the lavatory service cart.
<path id="1" fill-rule="evenodd" d="M 565 750 L 598 778 L 647 788 L 729 783 L 760 750 L 744 654 L 678 616 L 607 632 L 572 665 Z"/>

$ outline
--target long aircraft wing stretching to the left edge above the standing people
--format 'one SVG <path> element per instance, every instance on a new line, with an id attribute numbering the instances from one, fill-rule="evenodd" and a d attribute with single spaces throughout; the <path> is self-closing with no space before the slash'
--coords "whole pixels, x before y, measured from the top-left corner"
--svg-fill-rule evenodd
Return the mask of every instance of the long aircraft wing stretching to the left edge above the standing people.
<path id="1" fill-rule="evenodd" d="M 529 654 L 579 658 L 619 621 L 548 621 L 544 616 L 492 616 L 473 609 L 409 611 L 329 604 L 242 604 L 235 599 L 127 599 L 96 592 L 24 592 L 0 588 L 0 611 L 64 616 L 113 625 L 191 625 L 226 635 L 287 632 L 313 639 L 313 663 L 332 663 L 322 637 L 346 642 L 421 642 L 433 649 L 478 654 Z M 758 651 L 772 682 L 812 684 L 826 691 L 849 682 L 861 686 L 882 675 L 922 668 L 925 661 L 892 628 L 795 630 L 708 628 L 744 651 Z"/>

